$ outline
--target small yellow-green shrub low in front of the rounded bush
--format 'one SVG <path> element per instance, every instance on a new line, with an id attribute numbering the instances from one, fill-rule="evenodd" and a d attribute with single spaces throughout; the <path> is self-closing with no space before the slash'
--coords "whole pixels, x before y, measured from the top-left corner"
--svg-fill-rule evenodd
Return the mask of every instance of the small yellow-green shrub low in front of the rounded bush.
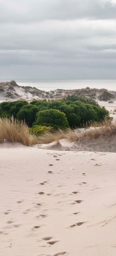
<path id="1" fill-rule="evenodd" d="M 42 125 L 34 125 L 32 128 L 30 128 L 30 132 L 32 134 L 36 134 L 40 136 L 44 132 L 49 132 L 52 129 L 50 126 L 42 126 Z"/>

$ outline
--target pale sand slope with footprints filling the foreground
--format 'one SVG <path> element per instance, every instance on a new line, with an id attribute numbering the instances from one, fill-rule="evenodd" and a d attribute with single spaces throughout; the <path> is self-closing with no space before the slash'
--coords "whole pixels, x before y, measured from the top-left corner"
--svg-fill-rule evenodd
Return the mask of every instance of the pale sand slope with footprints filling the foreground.
<path id="1" fill-rule="evenodd" d="M 0 256 L 115 254 L 116 153 L 0 147 Z"/>

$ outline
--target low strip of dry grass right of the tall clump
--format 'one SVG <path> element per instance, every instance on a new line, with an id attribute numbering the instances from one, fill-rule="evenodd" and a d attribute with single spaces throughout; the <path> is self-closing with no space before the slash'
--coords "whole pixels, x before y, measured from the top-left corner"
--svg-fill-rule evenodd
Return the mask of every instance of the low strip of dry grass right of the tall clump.
<path id="1" fill-rule="evenodd" d="M 83 127 L 82 127 L 83 128 Z M 94 122 L 91 127 L 87 125 L 85 130 L 82 129 L 67 129 L 65 131 L 58 130 L 57 132 L 46 132 L 39 137 L 39 144 L 48 144 L 50 142 L 56 141 L 60 144 L 61 139 L 67 139 L 70 142 L 84 140 L 84 138 L 98 138 L 99 136 L 111 136 L 116 134 L 116 122 L 111 123 L 110 121 L 104 120 L 103 122 Z"/>

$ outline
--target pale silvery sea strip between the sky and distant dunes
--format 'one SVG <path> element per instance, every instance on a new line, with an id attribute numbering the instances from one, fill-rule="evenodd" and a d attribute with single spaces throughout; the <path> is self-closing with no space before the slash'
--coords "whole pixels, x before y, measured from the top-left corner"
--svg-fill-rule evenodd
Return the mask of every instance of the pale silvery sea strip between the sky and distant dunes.
<path id="1" fill-rule="evenodd" d="M 15 80 L 20 86 L 36 87 L 39 90 L 50 91 L 56 89 L 72 90 L 86 88 L 105 88 L 116 91 L 116 80 L 66 80 L 66 79 L 2 79 L 1 82 Z"/>

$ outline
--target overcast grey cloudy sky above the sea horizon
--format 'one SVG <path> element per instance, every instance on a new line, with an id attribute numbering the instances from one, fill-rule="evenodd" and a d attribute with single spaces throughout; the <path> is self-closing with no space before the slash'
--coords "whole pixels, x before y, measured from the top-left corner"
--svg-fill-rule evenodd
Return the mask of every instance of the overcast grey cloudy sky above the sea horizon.
<path id="1" fill-rule="evenodd" d="M 116 0 L 0 0 L 3 78 L 116 78 Z"/>

